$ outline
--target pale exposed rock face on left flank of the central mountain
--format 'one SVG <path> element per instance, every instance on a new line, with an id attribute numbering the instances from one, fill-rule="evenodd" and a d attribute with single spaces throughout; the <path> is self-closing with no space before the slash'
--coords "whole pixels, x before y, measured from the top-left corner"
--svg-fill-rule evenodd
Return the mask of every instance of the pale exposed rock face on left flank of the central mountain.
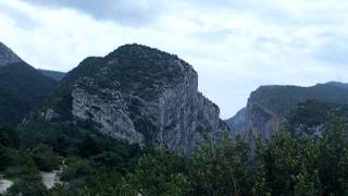
<path id="1" fill-rule="evenodd" d="M 72 91 L 73 115 L 98 123 L 100 125 L 98 128 L 104 134 L 141 145 L 144 136 L 135 131 L 121 94 L 112 90 L 109 93 L 112 98 L 102 99 L 79 87 L 74 88 Z"/>

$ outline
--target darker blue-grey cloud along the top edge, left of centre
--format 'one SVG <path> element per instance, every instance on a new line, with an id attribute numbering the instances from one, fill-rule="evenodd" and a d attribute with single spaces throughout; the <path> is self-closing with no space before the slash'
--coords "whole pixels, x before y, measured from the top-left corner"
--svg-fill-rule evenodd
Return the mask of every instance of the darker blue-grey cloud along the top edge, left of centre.
<path id="1" fill-rule="evenodd" d="M 78 10 L 97 20 L 114 21 L 123 25 L 149 24 L 162 14 L 162 0 L 24 0 L 28 3 Z"/>

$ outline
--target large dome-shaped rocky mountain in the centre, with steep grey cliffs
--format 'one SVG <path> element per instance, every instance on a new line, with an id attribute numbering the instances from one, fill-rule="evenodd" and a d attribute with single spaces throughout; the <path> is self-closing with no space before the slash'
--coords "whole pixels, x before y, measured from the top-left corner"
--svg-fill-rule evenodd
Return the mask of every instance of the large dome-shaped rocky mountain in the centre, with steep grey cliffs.
<path id="1" fill-rule="evenodd" d="M 198 91 L 191 65 L 157 49 L 126 45 L 80 62 L 21 130 L 48 134 L 71 124 L 84 132 L 87 123 L 89 130 L 128 144 L 159 144 L 189 154 L 223 138 L 227 128 L 219 113 Z"/>

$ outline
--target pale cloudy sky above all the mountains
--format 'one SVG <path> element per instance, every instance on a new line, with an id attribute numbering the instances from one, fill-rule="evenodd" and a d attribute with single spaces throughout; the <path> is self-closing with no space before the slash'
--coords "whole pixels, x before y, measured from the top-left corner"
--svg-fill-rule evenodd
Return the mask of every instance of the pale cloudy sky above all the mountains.
<path id="1" fill-rule="evenodd" d="M 347 0 L 0 0 L 0 41 L 65 72 L 125 44 L 175 53 L 223 119 L 260 85 L 348 82 Z"/>

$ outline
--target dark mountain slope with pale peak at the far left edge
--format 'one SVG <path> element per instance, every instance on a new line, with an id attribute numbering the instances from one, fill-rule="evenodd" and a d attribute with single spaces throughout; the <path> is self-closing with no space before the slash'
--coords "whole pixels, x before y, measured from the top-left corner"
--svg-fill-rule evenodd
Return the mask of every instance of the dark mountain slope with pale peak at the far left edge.
<path id="1" fill-rule="evenodd" d="M 55 82 L 22 61 L 0 44 L 0 124 L 16 126 L 39 106 Z"/>

